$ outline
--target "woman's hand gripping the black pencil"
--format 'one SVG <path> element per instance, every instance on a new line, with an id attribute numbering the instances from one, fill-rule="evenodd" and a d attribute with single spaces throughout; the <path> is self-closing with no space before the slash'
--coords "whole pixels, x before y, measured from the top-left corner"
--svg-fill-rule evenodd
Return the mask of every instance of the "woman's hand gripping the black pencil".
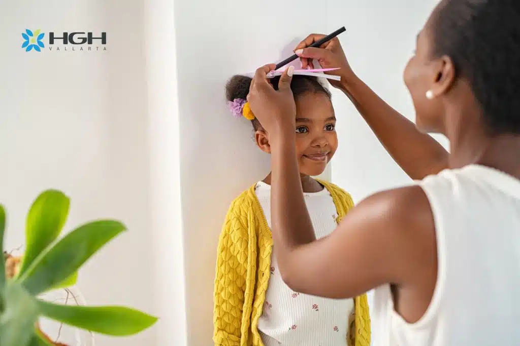
<path id="1" fill-rule="evenodd" d="M 319 48 L 309 47 L 311 44 L 322 39 L 325 35 L 311 34 L 294 49 L 295 54 L 300 57 L 302 61 L 302 68 L 313 68 L 313 59 L 318 60 L 322 68 L 336 68 L 341 70 L 327 72 L 330 75 L 341 76 L 339 80 L 329 80 L 330 84 L 338 89 L 345 89 L 345 82 L 355 77 L 352 68 L 348 64 L 345 52 L 341 47 L 340 40 L 334 37 L 330 41 L 322 44 Z M 345 91 L 345 90 L 344 90 Z"/>

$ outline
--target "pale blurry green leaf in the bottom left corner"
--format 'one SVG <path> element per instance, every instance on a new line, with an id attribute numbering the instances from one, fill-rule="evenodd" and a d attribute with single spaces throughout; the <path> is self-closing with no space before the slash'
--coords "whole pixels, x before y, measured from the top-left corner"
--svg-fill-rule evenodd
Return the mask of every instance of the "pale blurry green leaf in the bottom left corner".
<path id="1" fill-rule="evenodd" d="M 36 300 L 17 282 L 4 291 L 5 309 L 0 315 L 0 345 L 26 346 L 34 331 L 38 309 Z"/>

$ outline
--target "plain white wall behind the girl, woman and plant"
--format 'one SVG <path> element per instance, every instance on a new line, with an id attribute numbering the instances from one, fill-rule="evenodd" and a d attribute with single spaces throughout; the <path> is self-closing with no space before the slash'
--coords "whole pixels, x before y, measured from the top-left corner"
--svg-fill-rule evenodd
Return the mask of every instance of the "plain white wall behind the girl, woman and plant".
<path id="1" fill-rule="evenodd" d="M 24 215 L 36 194 L 62 189 L 72 197 L 68 228 L 97 217 L 129 227 L 82 271 L 88 302 L 161 317 L 144 334 L 99 337 L 98 344 L 211 344 L 225 213 L 269 171 L 250 123 L 225 107 L 226 79 L 282 60 L 310 32 L 345 25 L 341 40 L 355 71 L 413 117 L 401 72 L 435 3 L 328 0 L 319 9 L 309 0 L 1 3 L 0 201 L 9 209 L 8 246 L 23 241 Z M 104 30 L 108 51 L 26 53 L 25 27 Z M 333 182 L 356 201 L 407 182 L 347 99 L 334 93 L 333 102 L 340 135 Z"/>

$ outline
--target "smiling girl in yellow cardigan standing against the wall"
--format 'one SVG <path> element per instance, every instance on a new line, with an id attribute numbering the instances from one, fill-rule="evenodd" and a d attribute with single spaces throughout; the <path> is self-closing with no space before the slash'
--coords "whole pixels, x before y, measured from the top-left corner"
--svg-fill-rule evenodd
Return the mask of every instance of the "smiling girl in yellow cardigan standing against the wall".
<path id="1" fill-rule="evenodd" d="M 278 85 L 279 77 L 272 78 Z M 256 145 L 270 153 L 269 133 L 246 102 L 251 78 L 232 77 L 226 86 L 235 116 L 251 120 Z M 353 206 L 339 187 L 317 181 L 337 148 L 331 94 L 318 79 L 294 76 L 297 161 L 316 237 L 328 236 Z M 240 346 L 368 346 L 370 318 L 365 294 L 333 300 L 300 294 L 284 284 L 273 256 L 271 175 L 230 206 L 218 244 L 214 342 Z"/>

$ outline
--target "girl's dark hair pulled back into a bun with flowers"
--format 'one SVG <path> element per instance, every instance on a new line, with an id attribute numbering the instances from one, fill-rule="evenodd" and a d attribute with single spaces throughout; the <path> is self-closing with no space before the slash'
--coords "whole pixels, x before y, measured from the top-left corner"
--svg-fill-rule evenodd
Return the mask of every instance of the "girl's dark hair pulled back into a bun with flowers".
<path id="1" fill-rule="evenodd" d="M 231 77 L 231 79 L 229 79 L 226 84 L 227 101 L 233 101 L 235 99 L 245 100 L 249 93 L 251 80 L 252 79 L 250 77 L 240 75 Z M 275 90 L 278 90 L 279 80 L 279 76 L 270 79 L 270 82 Z M 321 84 L 318 78 L 312 76 L 294 75 L 291 81 L 291 90 L 294 95 L 294 100 L 297 100 L 307 93 L 323 93 L 327 95 L 329 100 L 331 99 L 330 91 Z M 255 131 L 263 130 L 262 124 L 256 118 L 251 120 L 251 122 L 253 123 L 253 128 Z"/>

